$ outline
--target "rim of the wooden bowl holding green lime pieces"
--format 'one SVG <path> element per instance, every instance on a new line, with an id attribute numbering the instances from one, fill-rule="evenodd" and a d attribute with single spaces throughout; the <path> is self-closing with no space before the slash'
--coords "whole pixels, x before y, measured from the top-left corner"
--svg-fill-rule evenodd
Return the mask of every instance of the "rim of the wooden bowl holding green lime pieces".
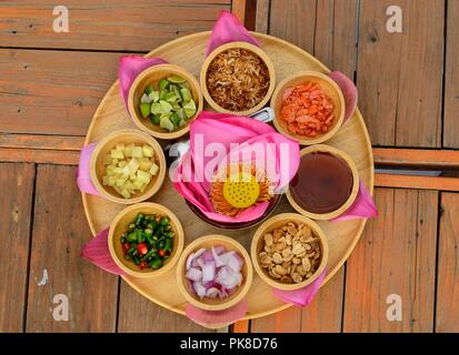
<path id="1" fill-rule="evenodd" d="M 133 97 L 136 93 L 137 88 L 139 87 L 140 81 L 143 80 L 143 78 L 151 75 L 152 73 L 156 72 L 160 72 L 163 70 L 169 70 L 171 72 L 174 72 L 176 74 L 179 74 L 181 77 L 186 77 L 184 79 L 190 83 L 190 85 L 192 85 L 197 92 L 198 92 L 198 101 L 196 106 L 197 106 L 197 111 L 193 118 L 189 119 L 187 122 L 187 125 L 181 128 L 180 130 L 173 131 L 173 132 L 159 132 L 159 131 L 153 131 L 150 130 L 147 125 L 143 124 L 142 120 L 137 115 L 136 112 L 136 108 L 134 108 L 134 102 L 133 102 Z M 157 65 L 152 65 L 149 67 L 147 69 L 144 69 L 143 71 L 141 71 L 134 79 L 134 81 L 132 82 L 131 87 L 129 88 L 129 93 L 128 93 L 128 114 L 131 118 L 131 120 L 133 121 L 133 123 L 137 125 L 137 128 L 139 128 L 140 130 L 142 130 L 143 132 L 154 136 L 154 138 L 159 138 L 162 140 L 174 140 L 178 139 L 184 134 L 187 134 L 190 131 L 190 124 L 191 122 L 199 115 L 199 113 L 201 113 L 203 109 L 203 97 L 202 97 L 202 90 L 201 87 L 199 85 L 198 80 L 194 78 L 193 74 L 191 74 L 188 70 L 186 70 L 184 68 L 180 67 L 180 65 L 176 65 L 176 64 L 169 64 L 169 63 L 164 63 L 164 64 L 157 64 Z"/>

